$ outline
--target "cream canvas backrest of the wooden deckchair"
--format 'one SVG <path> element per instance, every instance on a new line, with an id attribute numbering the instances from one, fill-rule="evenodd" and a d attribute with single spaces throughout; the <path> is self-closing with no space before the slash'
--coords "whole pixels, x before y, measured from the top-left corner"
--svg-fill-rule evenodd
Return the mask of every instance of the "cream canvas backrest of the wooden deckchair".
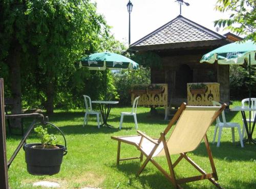
<path id="1" fill-rule="evenodd" d="M 186 106 L 167 140 L 169 154 L 195 150 L 220 109 L 219 106 Z M 165 155 L 164 149 L 158 155 Z"/>

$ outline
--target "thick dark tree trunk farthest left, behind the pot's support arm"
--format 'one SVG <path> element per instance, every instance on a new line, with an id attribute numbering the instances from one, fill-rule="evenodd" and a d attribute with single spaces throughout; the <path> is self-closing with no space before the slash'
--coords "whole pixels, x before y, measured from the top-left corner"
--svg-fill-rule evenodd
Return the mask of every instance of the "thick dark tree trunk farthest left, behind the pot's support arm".
<path id="1" fill-rule="evenodd" d="M 13 105 L 11 109 L 12 114 L 22 113 L 22 86 L 21 86 L 21 75 L 20 75 L 20 53 L 21 46 L 17 41 L 12 43 L 9 51 L 8 65 L 10 70 L 10 81 L 11 81 L 11 96 L 13 98 Z M 21 120 L 14 119 L 11 124 L 13 127 L 21 127 Z"/>

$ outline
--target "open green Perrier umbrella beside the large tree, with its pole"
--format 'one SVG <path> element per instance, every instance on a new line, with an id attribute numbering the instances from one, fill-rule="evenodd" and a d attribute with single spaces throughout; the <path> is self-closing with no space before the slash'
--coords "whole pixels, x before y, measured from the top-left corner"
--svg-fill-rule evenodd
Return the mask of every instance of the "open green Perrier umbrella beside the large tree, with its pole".
<path id="1" fill-rule="evenodd" d="M 98 52 L 82 58 L 79 67 L 83 66 L 88 67 L 89 70 L 137 70 L 139 68 L 139 64 L 133 60 L 113 52 Z M 104 88 L 106 94 L 106 71 Z"/>

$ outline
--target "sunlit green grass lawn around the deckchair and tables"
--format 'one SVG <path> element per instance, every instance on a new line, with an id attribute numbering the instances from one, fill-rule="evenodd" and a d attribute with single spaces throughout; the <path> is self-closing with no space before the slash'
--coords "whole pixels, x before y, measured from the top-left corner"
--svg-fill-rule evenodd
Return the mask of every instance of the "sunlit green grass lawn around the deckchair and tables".
<path id="1" fill-rule="evenodd" d="M 234 103 L 239 105 L 239 102 Z M 173 188 L 173 185 L 149 163 L 139 177 L 136 172 L 140 167 L 139 160 L 121 161 L 116 166 L 117 141 L 111 136 L 126 136 L 136 134 L 133 117 L 124 117 L 122 129 L 119 130 L 120 112 L 131 111 L 131 107 L 113 108 L 109 117 L 109 124 L 115 128 L 100 129 L 96 126 L 96 116 L 91 116 L 87 126 L 82 127 L 83 111 L 56 111 L 49 118 L 49 122 L 56 124 L 65 133 L 68 154 L 63 157 L 60 172 L 53 176 L 33 176 L 26 170 L 24 150 L 20 150 L 9 169 L 9 185 L 11 188 L 31 188 L 32 183 L 41 180 L 56 181 L 62 188 Z M 149 136 L 159 138 L 160 132 L 166 127 L 163 110 L 160 115 L 150 117 L 150 109 L 138 107 L 138 129 Z M 226 113 L 227 121 L 239 122 L 242 118 L 239 112 Z M 54 129 L 49 129 L 58 136 L 63 144 L 60 134 Z M 256 132 L 256 131 L 255 131 Z M 256 134 L 253 137 L 256 138 Z M 241 148 L 237 129 L 235 129 L 236 143 L 232 144 L 231 129 L 224 128 L 220 147 L 211 143 L 214 134 L 214 125 L 208 132 L 208 140 L 214 156 L 214 161 L 219 176 L 219 183 L 225 188 L 256 188 L 256 145 L 245 144 Z M 7 134 L 8 159 L 18 145 L 21 137 Z M 34 134 L 27 141 L 39 142 Z M 134 146 L 122 144 L 121 158 L 137 156 L 139 152 Z M 188 155 L 196 163 L 211 171 L 204 143 Z M 177 156 L 172 156 L 176 158 Z M 144 158 L 145 159 L 145 158 Z M 165 157 L 157 157 L 157 162 L 167 171 Z M 185 160 L 175 168 L 177 178 L 199 175 Z M 182 184 L 184 188 L 215 188 L 208 180 Z"/>

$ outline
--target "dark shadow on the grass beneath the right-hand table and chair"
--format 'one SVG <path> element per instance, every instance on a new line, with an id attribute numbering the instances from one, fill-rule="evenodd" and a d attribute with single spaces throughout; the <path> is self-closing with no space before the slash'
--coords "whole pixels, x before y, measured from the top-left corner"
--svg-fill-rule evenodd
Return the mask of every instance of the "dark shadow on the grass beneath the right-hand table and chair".
<path id="1" fill-rule="evenodd" d="M 244 144 L 244 148 L 241 148 L 240 143 L 232 143 L 232 142 L 221 142 L 220 147 L 216 146 L 215 144 L 210 144 L 210 148 L 212 151 L 212 155 L 214 158 L 218 158 L 221 160 L 232 161 L 232 160 L 243 160 L 243 161 L 250 161 L 251 159 L 255 159 L 255 150 L 256 145 L 254 144 Z M 202 143 L 193 154 L 198 156 L 206 156 L 206 148 L 205 144 Z"/>

